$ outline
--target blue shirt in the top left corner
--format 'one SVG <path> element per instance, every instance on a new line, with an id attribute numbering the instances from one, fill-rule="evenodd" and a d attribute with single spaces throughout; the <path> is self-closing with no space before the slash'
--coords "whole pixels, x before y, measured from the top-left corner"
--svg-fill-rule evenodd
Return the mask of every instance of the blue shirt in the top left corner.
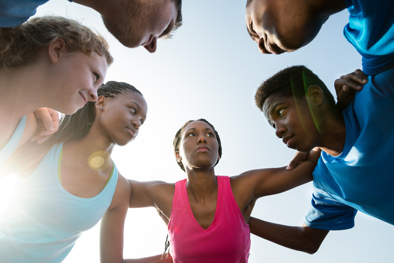
<path id="1" fill-rule="evenodd" d="M 26 22 L 37 7 L 49 0 L 0 0 L 0 27 L 12 28 Z M 73 0 L 69 0 L 72 2 Z"/>

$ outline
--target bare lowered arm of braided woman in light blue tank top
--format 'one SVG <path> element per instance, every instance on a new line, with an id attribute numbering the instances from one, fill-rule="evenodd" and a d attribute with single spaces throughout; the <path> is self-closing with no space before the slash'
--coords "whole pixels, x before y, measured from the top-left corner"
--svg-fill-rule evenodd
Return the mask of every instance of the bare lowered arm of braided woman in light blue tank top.
<path id="1" fill-rule="evenodd" d="M 119 175 L 115 188 L 113 208 L 101 219 L 100 226 L 100 262 L 101 263 L 172 263 L 171 257 L 161 260 L 162 255 L 139 259 L 123 259 L 123 238 L 126 214 L 129 207 L 131 187 L 128 181 Z M 111 208 L 111 207 L 110 207 Z"/>

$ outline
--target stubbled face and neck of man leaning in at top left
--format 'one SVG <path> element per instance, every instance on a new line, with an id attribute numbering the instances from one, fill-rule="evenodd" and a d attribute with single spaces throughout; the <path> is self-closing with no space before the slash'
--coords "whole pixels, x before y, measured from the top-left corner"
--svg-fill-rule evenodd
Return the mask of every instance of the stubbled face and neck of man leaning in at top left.
<path id="1" fill-rule="evenodd" d="M 150 53 L 156 51 L 157 40 L 171 32 L 178 15 L 178 8 L 172 0 L 74 2 L 98 11 L 108 30 L 123 45 L 131 48 L 143 46 Z"/>

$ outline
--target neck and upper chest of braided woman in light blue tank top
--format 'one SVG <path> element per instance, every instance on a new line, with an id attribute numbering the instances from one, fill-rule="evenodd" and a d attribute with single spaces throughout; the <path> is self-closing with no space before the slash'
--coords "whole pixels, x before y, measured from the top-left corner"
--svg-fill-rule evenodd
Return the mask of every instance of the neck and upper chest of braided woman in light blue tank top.
<path id="1" fill-rule="evenodd" d="M 82 166 L 86 166 L 90 155 L 98 151 L 105 151 L 108 153 L 106 155 L 100 155 L 104 157 L 103 166 L 111 163 L 111 154 L 114 144 L 108 139 L 108 136 L 100 132 L 100 129 L 98 129 L 94 123 L 84 138 L 67 142 L 66 144 L 71 148 L 74 158 L 80 160 Z"/>

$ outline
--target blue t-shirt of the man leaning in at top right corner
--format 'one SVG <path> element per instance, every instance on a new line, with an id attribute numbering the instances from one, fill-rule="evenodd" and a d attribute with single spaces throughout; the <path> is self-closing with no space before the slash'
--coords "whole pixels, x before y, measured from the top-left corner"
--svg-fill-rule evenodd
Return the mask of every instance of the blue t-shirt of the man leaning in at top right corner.
<path id="1" fill-rule="evenodd" d="M 394 65 L 394 1 L 345 0 L 346 39 L 362 56 L 362 71 L 376 75 Z"/>

